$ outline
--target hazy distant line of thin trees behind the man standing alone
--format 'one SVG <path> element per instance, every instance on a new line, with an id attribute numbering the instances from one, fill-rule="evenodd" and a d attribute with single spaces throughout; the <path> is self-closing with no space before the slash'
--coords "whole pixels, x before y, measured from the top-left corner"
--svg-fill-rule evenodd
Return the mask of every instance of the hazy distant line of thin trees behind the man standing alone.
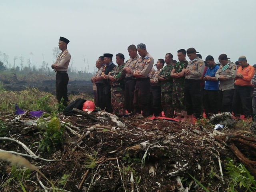
<path id="1" fill-rule="evenodd" d="M 58 54 L 60 53 L 60 50 L 58 47 L 54 47 L 52 50 L 53 54 L 53 62 L 57 59 Z M 51 64 L 49 65 L 44 61 L 44 55 L 42 54 L 42 62 L 40 65 L 37 63 L 32 64 L 32 55 L 33 53 L 30 52 L 30 57 L 27 59 L 27 62 L 24 63 L 24 57 L 21 55 L 20 57 L 14 56 L 13 58 L 13 64 L 11 64 L 9 60 L 9 56 L 6 53 L 2 53 L 0 51 L 0 72 L 2 71 L 10 71 L 14 74 L 28 74 L 28 72 L 32 72 L 35 74 L 44 74 L 47 76 L 53 76 L 55 75 L 54 70 L 51 68 Z M 81 70 L 77 70 L 73 67 L 73 60 L 71 59 L 70 64 L 68 66 L 68 75 L 73 78 L 79 78 L 84 80 L 89 80 L 92 76 L 96 73 L 96 68 L 94 68 L 94 72 L 89 72 L 89 64 L 88 64 L 88 70 L 86 69 L 86 60 L 85 56 L 83 56 L 84 61 L 84 68 L 81 68 Z"/>

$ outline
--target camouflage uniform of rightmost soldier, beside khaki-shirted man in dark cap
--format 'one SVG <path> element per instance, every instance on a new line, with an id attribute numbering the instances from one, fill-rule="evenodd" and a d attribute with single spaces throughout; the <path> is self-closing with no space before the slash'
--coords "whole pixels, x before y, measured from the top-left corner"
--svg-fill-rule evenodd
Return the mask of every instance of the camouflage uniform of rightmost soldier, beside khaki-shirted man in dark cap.
<path id="1" fill-rule="evenodd" d="M 182 72 L 182 69 L 187 67 L 188 61 L 178 62 L 174 66 L 175 73 Z M 172 105 L 177 114 L 182 111 L 186 111 L 186 106 L 184 105 L 184 89 L 185 89 L 185 76 L 180 78 L 174 78 L 173 89 L 172 89 Z"/>

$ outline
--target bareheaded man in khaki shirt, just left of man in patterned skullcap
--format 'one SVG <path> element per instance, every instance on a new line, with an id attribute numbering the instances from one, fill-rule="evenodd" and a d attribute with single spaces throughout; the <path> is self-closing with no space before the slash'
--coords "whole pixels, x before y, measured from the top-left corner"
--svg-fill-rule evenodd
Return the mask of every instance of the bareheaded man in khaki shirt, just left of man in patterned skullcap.
<path id="1" fill-rule="evenodd" d="M 136 84 L 136 78 L 133 76 L 136 62 L 140 58 L 137 53 L 137 48 L 135 45 L 130 45 L 127 48 L 130 59 L 126 62 L 124 71 L 125 76 L 125 87 L 124 87 L 124 102 L 125 108 L 129 112 L 129 115 L 134 115 L 133 97 L 134 89 Z"/>

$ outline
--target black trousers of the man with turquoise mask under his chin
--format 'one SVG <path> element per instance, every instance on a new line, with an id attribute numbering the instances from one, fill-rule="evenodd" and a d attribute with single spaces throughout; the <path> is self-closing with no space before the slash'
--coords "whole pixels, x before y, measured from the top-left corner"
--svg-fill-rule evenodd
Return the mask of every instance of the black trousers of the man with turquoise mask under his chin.
<path id="1" fill-rule="evenodd" d="M 232 102 L 233 102 L 234 89 L 230 90 L 219 90 L 218 93 L 218 105 L 220 112 L 232 113 Z"/>

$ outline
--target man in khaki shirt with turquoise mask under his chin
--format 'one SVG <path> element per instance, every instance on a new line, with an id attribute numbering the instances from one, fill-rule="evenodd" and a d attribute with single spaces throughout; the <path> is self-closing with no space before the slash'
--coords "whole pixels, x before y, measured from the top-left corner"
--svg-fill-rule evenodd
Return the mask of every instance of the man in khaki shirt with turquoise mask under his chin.
<path id="1" fill-rule="evenodd" d="M 215 74 L 216 80 L 220 82 L 218 90 L 218 105 L 220 112 L 232 113 L 232 101 L 234 95 L 234 78 L 236 77 L 236 64 L 228 60 L 226 54 L 220 54 L 220 68 Z"/>

